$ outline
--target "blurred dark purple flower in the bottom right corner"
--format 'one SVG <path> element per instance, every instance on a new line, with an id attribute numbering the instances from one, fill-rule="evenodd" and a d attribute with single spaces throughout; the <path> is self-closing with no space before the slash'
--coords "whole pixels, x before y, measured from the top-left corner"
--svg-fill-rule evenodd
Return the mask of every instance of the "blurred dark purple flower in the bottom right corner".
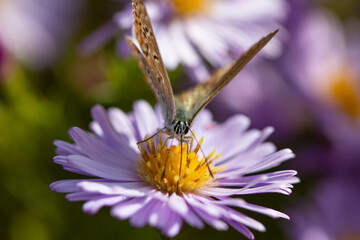
<path id="1" fill-rule="evenodd" d="M 290 238 L 360 239 L 359 179 L 354 180 L 335 178 L 318 185 L 309 204 L 291 213 Z"/>

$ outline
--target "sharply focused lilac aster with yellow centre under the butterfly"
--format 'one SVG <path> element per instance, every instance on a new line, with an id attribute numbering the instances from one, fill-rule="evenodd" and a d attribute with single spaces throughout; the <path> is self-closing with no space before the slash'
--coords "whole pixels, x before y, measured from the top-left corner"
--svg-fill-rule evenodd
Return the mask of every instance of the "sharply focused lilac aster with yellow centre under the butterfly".
<path id="1" fill-rule="evenodd" d="M 217 230 L 232 226 L 251 239 L 254 236 L 248 228 L 265 231 L 260 222 L 233 207 L 288 219 L 278 211 L 232 198 L 259 193 L 288 195 L 298 181 L 291 170 L 255 174 L 294 156 L 289 149 L 276 151 L 273 144 L 264 142 L 272 128 L 248 130 L 250 121 L 242 115 L 217 124 L 211 113 L 203 110 L 193 125 L 199 142 L 191 141 L 187 154 L 176 140 L 164 145 L 163 134 L 137 147 L 138 141 L 163 126 L 160 107 L 154 111 L 145 101 L 137 101 L 134 111 L 125 114 L 117 108 L 106 111 L 95 106 L 92 116 L 93 133 L 72 128 L 75 144 L 55 141 L 58 155 L 54 161 L 65 170 L 93 178 L 50 185 L 54 191 L 68 193 L 69 201 L 86 201 L 86 213 L 95 214 L 109 206 L 113 217 L 130 219 L 135 227 L 149 224 L 168 237 L 179 233 L 183 221 L 200 229 L 204 223 Z"/>

